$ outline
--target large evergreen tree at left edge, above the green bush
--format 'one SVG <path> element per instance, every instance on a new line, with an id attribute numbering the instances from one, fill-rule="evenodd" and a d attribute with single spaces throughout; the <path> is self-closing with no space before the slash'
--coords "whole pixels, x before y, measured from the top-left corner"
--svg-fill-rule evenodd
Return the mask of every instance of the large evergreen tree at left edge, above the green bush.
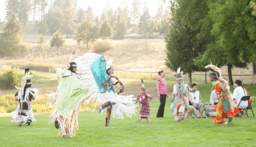
<path id="1" fill-rule="evenodd" d="M 18 56 L 26 50 L 23 42 L 22 24 L 17 20 L 16 14 L 3 25 L 3 33 L 0 36 L 0 55 Z"/>

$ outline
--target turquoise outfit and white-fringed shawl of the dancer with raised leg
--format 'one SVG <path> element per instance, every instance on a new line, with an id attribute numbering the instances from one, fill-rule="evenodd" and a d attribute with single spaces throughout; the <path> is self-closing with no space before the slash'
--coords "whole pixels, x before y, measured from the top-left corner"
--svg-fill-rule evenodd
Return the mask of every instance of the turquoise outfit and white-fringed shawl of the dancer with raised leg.
<path id="1" fill-rule="evenodd" d="M 96 53 L 86 53 L 83 56 L 77 57 L 75 62 L 78 66 L 82 67 L 77 72 L 82 76 L 83 84 L 89 87 L 89 98 L 84 105 L 93 105 L 94 109 L 92 111 L 100 105 L 100 113 L 102 112 L 101 110 L 106 109 L 107 111 L 109 108 L 112 108 L 112 116 L 121 119 L 124 119 L 123 113 L 126 113 L 128 117 L 135 114 L 136 98 L 133 98 L 133 95 L 117 95 L 113 89 L 114 84 L 111 82 L 111 77 L 114 76 L 109 75 L 108 77 L 106 73 L 106 70 L 110 69 L 111 63 L 108 63 L 108 68 L 106 68 L 105 58 Z M 123 88 L 120 92 L 122 91 Z M 109 120 L 110 117 L 106 117 L 105 127 L 108 127 Z"/>

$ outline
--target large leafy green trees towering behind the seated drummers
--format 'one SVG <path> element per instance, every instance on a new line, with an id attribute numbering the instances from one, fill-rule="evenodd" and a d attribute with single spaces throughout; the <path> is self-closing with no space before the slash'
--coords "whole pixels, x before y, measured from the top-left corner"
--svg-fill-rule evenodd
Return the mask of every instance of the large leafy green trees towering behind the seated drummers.
<path id="1" fill-rule="evenodd" d="M 212 63 L 226 65 L 233 85 L 233 67 L 256 61 L 256 17 L 251 0 L 173 0 L 171 29 L 166 36 L 166 65 L 173 71 L 206 71 Z M 255 5 L 254 5 L 255 6 Z M 255 67 L 255 66 L 254 66 Z M 255 69 L 254 69 L 255 70 Z"/>

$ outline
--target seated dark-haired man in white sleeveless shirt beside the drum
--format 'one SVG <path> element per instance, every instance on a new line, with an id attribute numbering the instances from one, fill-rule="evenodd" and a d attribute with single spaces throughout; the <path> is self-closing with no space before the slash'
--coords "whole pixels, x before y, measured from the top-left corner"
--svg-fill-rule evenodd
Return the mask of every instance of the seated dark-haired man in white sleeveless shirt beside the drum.
<path id="1" fill-rule="evenodd" d="M 197 105 L 196 109 L 199 110 L 200 117 L 203 117 L 204 105 L 202 104 L 201 95 L 199 91 L 197 91 L 197 85 L 194 83 L 191 85 L 191 88 L 192 88 L 192 92 L 190 93 L 191 99 L 192 99 L 191 104 Z"/>

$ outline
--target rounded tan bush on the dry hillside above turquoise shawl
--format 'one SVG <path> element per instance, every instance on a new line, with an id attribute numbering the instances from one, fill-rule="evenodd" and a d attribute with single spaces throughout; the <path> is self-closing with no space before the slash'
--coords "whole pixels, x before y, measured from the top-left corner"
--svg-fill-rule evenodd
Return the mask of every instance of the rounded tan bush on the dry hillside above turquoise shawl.
<path id="1" fill-rule="evenodd" d="M 107 41 L 95 41 L 91 48 L 95 53 L 102 53 L 111 50 L 111 43 Z"/>

